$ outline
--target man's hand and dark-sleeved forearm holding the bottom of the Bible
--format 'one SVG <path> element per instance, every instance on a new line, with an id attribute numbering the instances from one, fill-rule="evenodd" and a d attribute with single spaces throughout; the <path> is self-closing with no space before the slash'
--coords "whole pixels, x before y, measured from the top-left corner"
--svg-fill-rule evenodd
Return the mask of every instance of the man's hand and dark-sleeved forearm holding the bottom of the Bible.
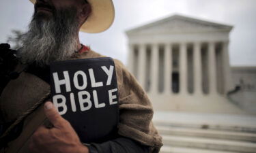
<path id="1" fill-rule="evenodd" d="M 132 139 L 118 137 L 104 143 L 92 143 L 83 146 L 70 123 L 62 118 L 51 102 L 44 104 L 44 112 L 53 128 L 40 126 L 31 138 L 31 152 L 76 152 L 76 153 L 143 153 L 149 152 L 148 146 L 143 146 Z"/>

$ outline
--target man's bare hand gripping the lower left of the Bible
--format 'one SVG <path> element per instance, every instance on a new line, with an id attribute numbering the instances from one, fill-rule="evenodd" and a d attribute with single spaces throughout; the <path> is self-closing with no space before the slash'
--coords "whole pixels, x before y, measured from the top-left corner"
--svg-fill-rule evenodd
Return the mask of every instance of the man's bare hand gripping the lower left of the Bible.
<path id="1" fill-rule="evenodd" d="M 29 149 L 31 153 L 88 153 L 87 147 L 83 146 L 70 123 L 62 118 L 53 103 L 44 104 L 44 112 L 48 120 L 53 124 L 52 129 L 40 126 L 33 136 Z"/>

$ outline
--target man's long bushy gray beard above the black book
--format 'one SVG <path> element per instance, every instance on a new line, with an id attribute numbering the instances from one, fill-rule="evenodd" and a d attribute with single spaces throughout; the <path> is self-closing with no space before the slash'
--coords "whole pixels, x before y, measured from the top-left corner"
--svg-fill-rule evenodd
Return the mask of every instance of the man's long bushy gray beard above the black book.
<path id="1" fill-rule="evenodd" d="M 77 50 L 79 24 L 74 12 L 57 12 L 50 19 L 37 18 L 29 24 L 29 31 L 22 37 L 18 56 L 25 63 L 49 65 L 54 61 L 69 59 Z"/>

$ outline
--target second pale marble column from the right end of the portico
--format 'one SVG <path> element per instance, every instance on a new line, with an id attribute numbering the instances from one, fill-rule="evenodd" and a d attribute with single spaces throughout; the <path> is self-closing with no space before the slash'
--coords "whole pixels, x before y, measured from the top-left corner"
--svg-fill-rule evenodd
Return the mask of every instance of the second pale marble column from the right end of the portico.
<path id="1" fill-rule="evenodd" d="M 215 43 L 208 44 L 208 61 L 209 61 L 209 94 L 216 94 L 217 81 L 216 81 L 216 52 Z"/>

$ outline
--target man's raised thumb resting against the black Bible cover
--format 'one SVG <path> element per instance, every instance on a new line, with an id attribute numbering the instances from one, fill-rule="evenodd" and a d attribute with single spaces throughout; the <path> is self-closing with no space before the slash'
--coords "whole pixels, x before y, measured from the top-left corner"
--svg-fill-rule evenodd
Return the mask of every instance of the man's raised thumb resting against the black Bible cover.
<path id="1" fill-rule="evenodd" d="M 48 120 L 55 126 L 59 128 L 61 126 L 65 126 L 66 120 L 64 120 L 60 115 L 57 109 L 53 106 L 53 103 L 50 101 L 44 103 L 44 113 Z"/>

